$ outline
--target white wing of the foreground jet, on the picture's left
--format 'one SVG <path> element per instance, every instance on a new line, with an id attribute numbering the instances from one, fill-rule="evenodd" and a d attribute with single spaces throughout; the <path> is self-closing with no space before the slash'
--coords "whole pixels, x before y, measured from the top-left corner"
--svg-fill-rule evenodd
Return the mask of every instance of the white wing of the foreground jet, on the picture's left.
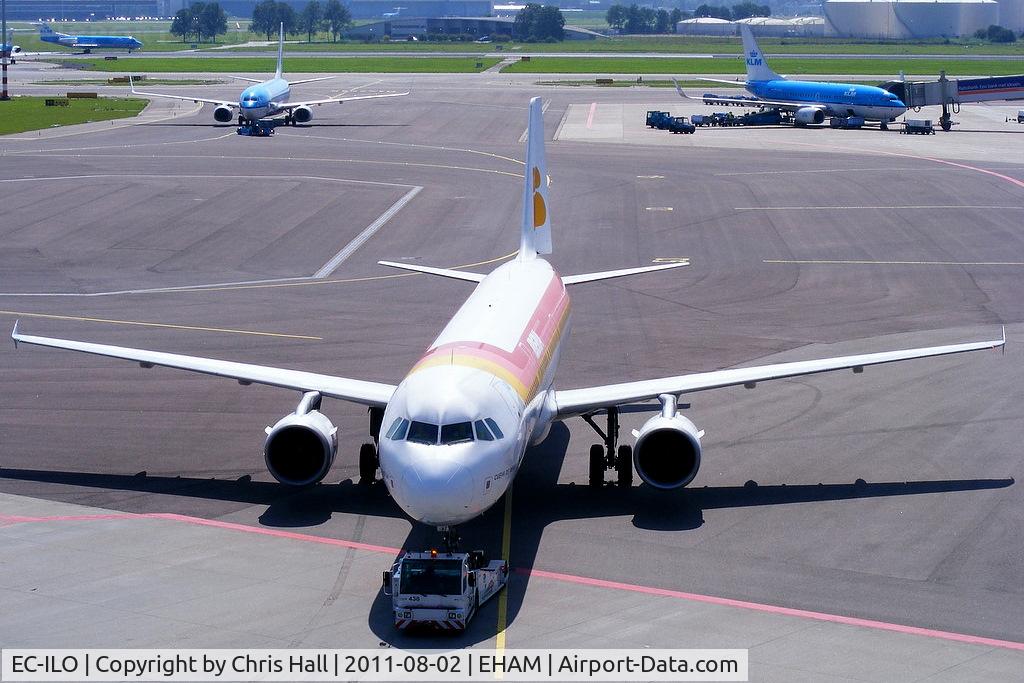
<path id="1" fill-rule="evenodd" d="M 187 370 L 188 372 L 201 373 L 203 375 L 227 377 L 238 380 L 240 384 L 266 384 L 286 389 L 296 389 L 298 391 L 318 391 L 321 394 L 331 398 L 340 398 L 341 400 L 348 400 L 372 408 L 384 408 L 387 405 L 395 389 L 392 384 L 350 380 L 344 377 L 318 375 L 300 370 L 255 366 L 248 362 L 218 360 L 195 355 L 164 353 L 162 351 L 146 351 L 138 348 L 111 346 L 108 344 L 92 344 L 70 339 L 33 337 L 19 333 L 16 323 L 14 324 L 14 331 L 11 332 L 10 336 L 14 340 L 15 346 L 18 343 L 49 346 L 50 348 L 62 348 L 69 351 L 81 351 L 93 355 L 105 355 L 123 360 L 134 360 L 142 368 L 162 366 L 164 368 Z"/>

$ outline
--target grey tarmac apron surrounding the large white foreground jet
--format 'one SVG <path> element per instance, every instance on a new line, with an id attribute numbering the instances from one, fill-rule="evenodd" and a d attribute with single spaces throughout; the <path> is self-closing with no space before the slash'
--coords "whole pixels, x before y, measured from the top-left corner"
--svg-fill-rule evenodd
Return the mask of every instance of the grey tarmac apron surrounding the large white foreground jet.
<path id="1" fill-rule="evenodd" d="M 755 681 L 1022 680 L 1016 109 L 965 106 L 928 137 L 683 136 L 644 112 L 714 108 L 535 83 L 343 76 L 293 96 L 412 94 L 322 106 L 269 138 L 209 108 L 2 137 L 0 318 L 396 382 L 469 289 L 376 262 L 483 272 L 510 256 L 539 94 L 556 268 L 690 261 L 575 288 L 559 387 L 997 339 L 1001 325 L 1005 353 L 690 395 L 703 464 L 667 494 L 590 489 L 596 435 L 556 425 L 510 499 L 463 529 L 493 556 L 508 542 L 504 605 L 434 637 L 395 632 L 380 588 L 398 549 L 435 539 L 355 483 L 364 411 L 325 402 L 334 469 L 287 489 L 262 429 L 298 395 L 8 347 L 4 647 L 739 647 Z M 624 416 L 623 434 L 644 419 Z"/>

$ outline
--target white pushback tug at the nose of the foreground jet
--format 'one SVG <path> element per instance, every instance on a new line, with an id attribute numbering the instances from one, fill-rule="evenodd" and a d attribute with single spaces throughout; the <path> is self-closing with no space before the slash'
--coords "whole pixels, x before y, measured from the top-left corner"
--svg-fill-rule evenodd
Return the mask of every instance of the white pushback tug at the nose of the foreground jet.
<path id="1" fill-rule="evenodd" d="M 477 608 L 508 583 L 508 563 L 483 553 L 406 553 L 384 572 L 394 625 L 463 631 Z"/>

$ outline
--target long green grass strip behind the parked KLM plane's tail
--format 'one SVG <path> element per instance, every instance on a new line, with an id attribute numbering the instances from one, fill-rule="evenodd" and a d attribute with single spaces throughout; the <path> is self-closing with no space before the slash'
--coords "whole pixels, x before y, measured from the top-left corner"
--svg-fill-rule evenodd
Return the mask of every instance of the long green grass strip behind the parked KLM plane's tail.
<path id="1" fill-rule="evenodd" d="M 945 70 L 950 76 L 1001 76 L 1019 74 L 1024 65 L 1016 60 L 978 59 L 954 57 L 940 59 L 914 59 L 907 62 L 898 58 L 842 58 L 782 57 L 771 60 L 771 67 L 788 76 L 851 74 L 895 76 L 901 70 L 914 75 L 938 74 Z M 735 59 L 658 58 L 637 57 L 534 57 L 517 61 L 502 70 L 510 74 L 712 74 L 740 75 L 744 67 Z"/>

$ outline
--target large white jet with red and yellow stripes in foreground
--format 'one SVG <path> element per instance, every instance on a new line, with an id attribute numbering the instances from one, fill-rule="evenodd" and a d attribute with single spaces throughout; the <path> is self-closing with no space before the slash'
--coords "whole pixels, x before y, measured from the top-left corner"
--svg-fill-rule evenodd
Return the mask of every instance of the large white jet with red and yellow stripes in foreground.
<path id="1" fill-rule="evenodd" d="M 755 368 L 581 389 L 554 387 L 555 368 L 569 330 L 566 288 L 582 283 L 675 268 L 683 263 L 561 276 L 542 254 L 551 253 L 547 168 L 541 99 L 529 104 L 526 173 L 518 256 L 489 274 L 382 261 L 384 265 L 469 281 L 473 293 L 397 385 L 318 375 L 282 368 L 202 358 L 23 334 L 15 344 L 83 351 L 303 392 L 291 415 L 267 427 L 264 455 L 270 474 L 285 484 L 323 479 L 337 452 L 337 430 L 319 412 L 329 396 L 368 405 L 371 435 L 359 453 L 361 477 L 383 480 L 414 519 L 447 531 L 494 505 L 519 469 L 527 446 L 541 441 L 552 423 L 582 417 L 592 426 L 606 414 L 605 445 L 591 450 L 591 483 L 603 483 L 615 469 L 630 483 L 634 468 L 647 484 L 678 488 L 700 466 L 703 435 L 679 412 L 681 394 L 786 377 L 927 356 L 995 348 L 1002 339 L 949 346 L 800 360 Z M 635 442 L 617 446 L 621 407 L 657 399 L 658 415 L 634 432 Z M 600 431 L 600 430 L 598 430 Z M 617 449 L 616 449 L 617 446 Z M 379 457 L 378 457 L 379 453 Z"/>

